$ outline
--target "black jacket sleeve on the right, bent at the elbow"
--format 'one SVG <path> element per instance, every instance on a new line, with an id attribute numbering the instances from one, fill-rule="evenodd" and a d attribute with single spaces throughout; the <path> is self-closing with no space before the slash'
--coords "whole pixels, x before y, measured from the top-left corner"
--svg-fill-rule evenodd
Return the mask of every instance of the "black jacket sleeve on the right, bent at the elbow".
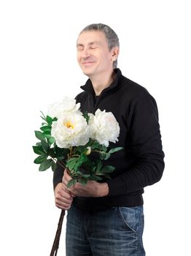
<path id="1" fill-rule="evenodd" d="M 136 161 L 129 170 L 107 181 L 110 196 L 136 192 L 160 181 L 163 175 L 164 153 L 157 104 L 150 94 L 133 102 L 127 124 Z"/>

